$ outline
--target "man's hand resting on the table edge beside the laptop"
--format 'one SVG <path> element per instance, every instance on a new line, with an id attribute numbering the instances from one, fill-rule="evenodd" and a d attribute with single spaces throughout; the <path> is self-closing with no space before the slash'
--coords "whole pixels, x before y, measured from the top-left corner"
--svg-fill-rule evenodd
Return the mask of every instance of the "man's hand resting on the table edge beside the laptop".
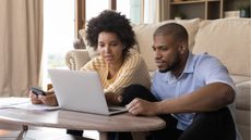
<path id="1" fill-rule="evenodd" d="M 157 102 L 148 102 L 142 99 L 134 99 L 125 105 L 128 112 L 133 115 L 157 115 Z"/>

